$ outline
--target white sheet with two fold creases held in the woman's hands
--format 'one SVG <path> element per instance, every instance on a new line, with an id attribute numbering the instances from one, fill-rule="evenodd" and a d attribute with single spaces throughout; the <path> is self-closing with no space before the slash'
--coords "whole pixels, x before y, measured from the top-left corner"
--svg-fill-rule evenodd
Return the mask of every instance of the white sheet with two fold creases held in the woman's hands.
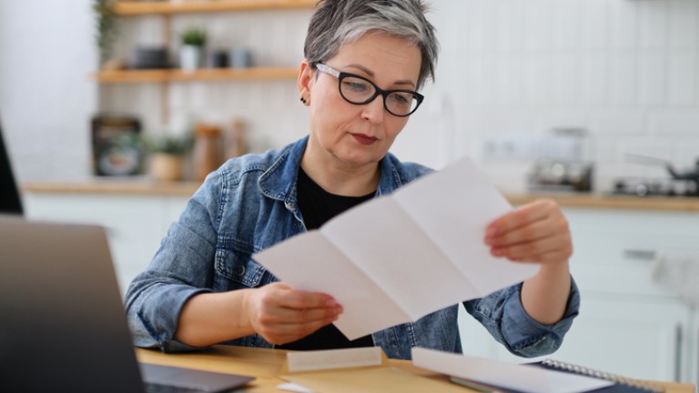
<path id="1" fill-rule="evenodd" d="M 335 326 L 355 339 L 536 273 L 484 244 L 485 227 L 511 209 L 462 158 L 253 258 L 290 287 L 335 297 Z"/>

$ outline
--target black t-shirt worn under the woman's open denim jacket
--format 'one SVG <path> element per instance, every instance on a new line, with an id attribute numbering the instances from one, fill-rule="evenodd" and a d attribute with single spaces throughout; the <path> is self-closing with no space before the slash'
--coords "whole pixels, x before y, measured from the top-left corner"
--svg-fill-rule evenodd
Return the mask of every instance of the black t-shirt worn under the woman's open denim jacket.
<path id="1" fill-rule="evenodd" d="M 350 207 L 374 197 L 374 193 L 367 196 L 337 196 L 330 194 L 316 184 L 306 172 L 299 167 L 299 179 L 297 180 L 297 193 L 299 209 L 303 216 L 303 222 L 307 229 L 316 229 Z M 357 288 L 361 290 L 361 288 Z M 335 325 L 319 328 L 314 333 L 301 338 L 298 341 L 278 346 L 280 349 L 311 350 L 334 348 L 373 347 L 374 340 L 370 335 L 349 341 Z"/>

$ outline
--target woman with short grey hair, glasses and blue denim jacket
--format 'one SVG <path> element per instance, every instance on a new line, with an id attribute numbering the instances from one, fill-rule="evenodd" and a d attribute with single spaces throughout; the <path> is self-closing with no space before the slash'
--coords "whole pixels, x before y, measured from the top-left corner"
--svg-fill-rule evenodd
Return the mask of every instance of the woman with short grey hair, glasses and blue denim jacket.
<path id="1" fill-rule="evenodd" d="M 456 305 L 349 341 L 331 325 L 342 312 L 332 297 L 288 287 L 251 259 L 430 172 L 388 153 L 420 106 L 416 91 L 433 76 L 437 43 L 424 13 L 420 0 L 319 3 L 298 81 L 309 136 L 229 160 L 208 176 L 128 289 L 137 346 L 375 345 L 390 358 L 410 358 L 414 346 L 461 352 Z M 521 285 L 464 306 L 512 353 L 552 352 L 579 305 L 560 209 L 550 201 L 532 203 L 492 222 L 483 237 L 494 256 L 541 268 Z"/>

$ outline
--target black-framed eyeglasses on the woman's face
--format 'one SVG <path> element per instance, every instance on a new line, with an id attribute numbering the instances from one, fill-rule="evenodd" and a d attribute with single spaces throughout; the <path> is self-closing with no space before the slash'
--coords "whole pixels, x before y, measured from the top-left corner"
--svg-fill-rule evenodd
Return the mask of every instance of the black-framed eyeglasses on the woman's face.
<path id="1" fill-rule="evenodd" d="M 339 72 L 335 68 L 319 63 L 318 70 L 338 78 L 339 95 L 354 105 L 369 104 L 377 96 L 383 96 L 383 107 L 393 116 L 410 116 L 425 99 L 412 90 L 382 90 L 363 76 Z"/>

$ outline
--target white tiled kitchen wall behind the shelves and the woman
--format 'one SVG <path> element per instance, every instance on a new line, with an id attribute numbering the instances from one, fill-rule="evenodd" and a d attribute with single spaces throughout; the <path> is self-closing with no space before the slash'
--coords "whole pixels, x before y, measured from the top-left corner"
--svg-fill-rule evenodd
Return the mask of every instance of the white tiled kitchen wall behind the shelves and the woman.
<path id="1" fill-rule="evenodd" d="M 403 159 L 442 166 L 474 156 L 505 190 L 521 190 L 553 129 L 587 131 L 595 186 L 618 176 L 664 176 L 626 153 L 691 167 L 699 156 L 699 2 L 696 0 L 435 0 L 437 83 L 400 136 Z M 89 173 L 89 118 L 136 113 L 163 131 L 157 84 L 100 86 L 95 17 L 87 0 L 0 5 L 0 110 L 20 182 Z M 248 45 L 260 65 L 297 65 L 309 10 L 182 15 L 206 25 L 209 48 Z M 260 27 L 260 21 L 264 24 Z M 127 18 L 117 54 L 163 42 L 157 16 Z M 293 81 L 172 87 L 168 132 L 197 119 L 241 117 L 258 148 L 306 131 Z"/>

